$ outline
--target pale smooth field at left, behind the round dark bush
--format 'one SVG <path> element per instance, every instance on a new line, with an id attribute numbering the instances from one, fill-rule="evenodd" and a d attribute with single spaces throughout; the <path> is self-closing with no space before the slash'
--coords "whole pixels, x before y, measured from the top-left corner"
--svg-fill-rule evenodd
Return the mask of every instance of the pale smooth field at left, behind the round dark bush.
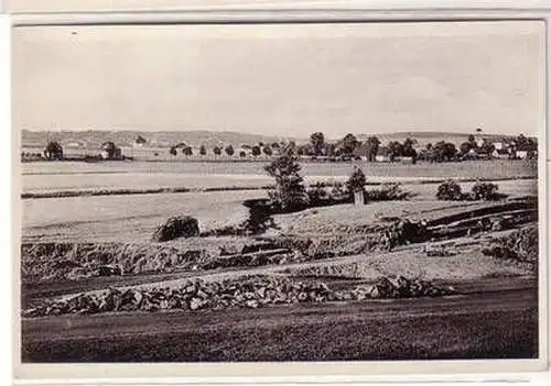
<path id="1" fill-rule="evenodd" d="M 140 242 L 172 216 L 193 216 L 199 230 L 248 218 L 247 198 L 262 191 L 74 197 L 23 201 L 23 240 Z"/>

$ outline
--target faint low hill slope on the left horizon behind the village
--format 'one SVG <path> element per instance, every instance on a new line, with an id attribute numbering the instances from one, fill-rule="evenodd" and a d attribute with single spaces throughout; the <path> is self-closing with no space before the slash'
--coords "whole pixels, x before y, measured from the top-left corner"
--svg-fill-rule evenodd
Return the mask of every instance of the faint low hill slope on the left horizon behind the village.
<path id="1" fill-rule="evenodd" d="M 278 136 L 245 134 L 237 132 L 182 131 L 182 132 L 142 132 L 142 131 L 30 131 L 23 130 L 21 143 L 23 147 L 42 147 L 48 141 L 60 141 L 62 145 L 84 143 L 87 148 L 98 148 L 104 142 L 112 141 L 119 146 L 130 146 L 138 136 L 145 139 L 147 144 L 155 147 L 169 147 L 184 142 L 192 146 L 272 143 L 293 140 Z"/>

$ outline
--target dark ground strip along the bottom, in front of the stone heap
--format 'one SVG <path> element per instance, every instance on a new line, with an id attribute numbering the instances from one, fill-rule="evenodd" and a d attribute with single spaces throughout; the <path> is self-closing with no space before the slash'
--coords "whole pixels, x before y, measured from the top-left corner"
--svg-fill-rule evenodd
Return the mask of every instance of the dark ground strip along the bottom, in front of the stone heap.
<path id="1" fill-rule="evenodd" d="M 537 284 L 460 298 L 23 320 L 23 362 L 531 359 Z M 495 291 L 499 287 L 500 291 Z M 478 294 L 477 294 L 478 293 Z M 483 293 L 484 295 L 480 295 Z M 437 333 L 435 334 L 435 331 Z"/>

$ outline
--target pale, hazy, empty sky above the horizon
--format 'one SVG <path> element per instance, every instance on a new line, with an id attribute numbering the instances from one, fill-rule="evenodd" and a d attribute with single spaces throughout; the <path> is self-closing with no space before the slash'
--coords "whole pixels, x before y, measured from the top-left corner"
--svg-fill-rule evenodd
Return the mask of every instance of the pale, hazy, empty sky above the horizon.
<path id="1" fill-rule="evenodd" d="M 541 22 L 20 26 L 30 130 L 536 135 Z"/>

